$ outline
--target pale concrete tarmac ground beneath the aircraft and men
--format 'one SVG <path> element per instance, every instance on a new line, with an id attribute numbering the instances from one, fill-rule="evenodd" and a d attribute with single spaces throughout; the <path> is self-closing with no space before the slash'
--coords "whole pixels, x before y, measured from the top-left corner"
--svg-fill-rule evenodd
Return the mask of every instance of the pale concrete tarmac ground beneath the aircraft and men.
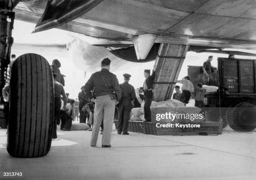
<path id="1" fill-rule="evenodd" d="M 0 129 L 0 179 L 20 180 L 255 180 L 256 130 L 208 136 L 117 134 L 111 148 L 90 146 L 91 131 L 60 131 L 44 157 L 15 158 Z M 4 172 L 22 172 L 6 177 Z"/>

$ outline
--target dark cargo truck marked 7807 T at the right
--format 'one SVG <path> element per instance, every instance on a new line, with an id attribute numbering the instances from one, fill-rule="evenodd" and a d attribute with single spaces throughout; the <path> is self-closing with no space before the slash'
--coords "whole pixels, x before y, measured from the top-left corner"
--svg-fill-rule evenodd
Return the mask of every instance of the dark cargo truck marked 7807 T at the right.
<path id="1" fill-rule="evenodd" d="M 202 80 L 201 66 L 188 66 L 188 75 L 195 85 Z M 256 128 L 256 60 L 218 58 L 218 71 L 213 72 L 210 85 L 215 92 L 205 93 L 206 119 L 222 121 L 241 132 Z"/>

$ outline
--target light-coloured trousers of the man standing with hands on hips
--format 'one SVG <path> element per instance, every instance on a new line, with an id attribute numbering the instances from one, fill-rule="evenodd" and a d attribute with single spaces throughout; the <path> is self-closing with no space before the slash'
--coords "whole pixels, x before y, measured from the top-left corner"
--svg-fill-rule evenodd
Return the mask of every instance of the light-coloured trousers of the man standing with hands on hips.
<path id="1" fill-rule="evenodd" d="M 102 135 L 102 145 L 110 145 L 111 132 L 114 122 L 115 100 L 110 99 L 110 95 L 97 96 L 95 99 L 94 122 L 92 127 L 91 145 L 97 144 L 100 125 L 103 119 L 104 131 Z"/>

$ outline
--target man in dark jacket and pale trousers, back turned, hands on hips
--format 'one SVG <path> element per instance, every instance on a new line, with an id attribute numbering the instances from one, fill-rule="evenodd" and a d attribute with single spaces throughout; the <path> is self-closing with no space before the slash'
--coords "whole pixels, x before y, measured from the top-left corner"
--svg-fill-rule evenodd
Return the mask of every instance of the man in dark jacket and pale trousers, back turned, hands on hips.
<path id="1" fill-rule="evenodd" d="M 121 89 L 115 74 L 110 73 L 110 60 L 105 58 L 101 61 L 101 71 L 90 77 L 84 86 L 87 96 L 95 102 L 94 122 L 92 127 L 91 146 L 95 147 L 103 119 L 104 131 L 102 135 L 102 147 L 111 147 L 110 138 L 114 121 L 115 104 L 121 99 Z M 94 95 L 91 91 L 94 89 Z M 114 95 L 116 94 L 116 96 Z"/>

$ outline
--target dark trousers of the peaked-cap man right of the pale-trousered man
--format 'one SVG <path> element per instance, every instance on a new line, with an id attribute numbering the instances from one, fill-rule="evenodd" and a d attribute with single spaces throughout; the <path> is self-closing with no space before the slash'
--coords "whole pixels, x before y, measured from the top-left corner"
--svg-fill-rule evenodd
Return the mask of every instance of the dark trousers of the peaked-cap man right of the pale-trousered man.
<path id="1" fill-rule="evenodd" d="M 118 110 L 119 110 L 119 118 L 118 118 L 118 133 L 120 134 L 123 132 L 123 134 L 128 132 L 128 121 L 130 120 L 130 114 L 131 109 L 133 108 L 133 105 L 131 104 L 131 101 L 120 101 L 118 104 Z"/>

